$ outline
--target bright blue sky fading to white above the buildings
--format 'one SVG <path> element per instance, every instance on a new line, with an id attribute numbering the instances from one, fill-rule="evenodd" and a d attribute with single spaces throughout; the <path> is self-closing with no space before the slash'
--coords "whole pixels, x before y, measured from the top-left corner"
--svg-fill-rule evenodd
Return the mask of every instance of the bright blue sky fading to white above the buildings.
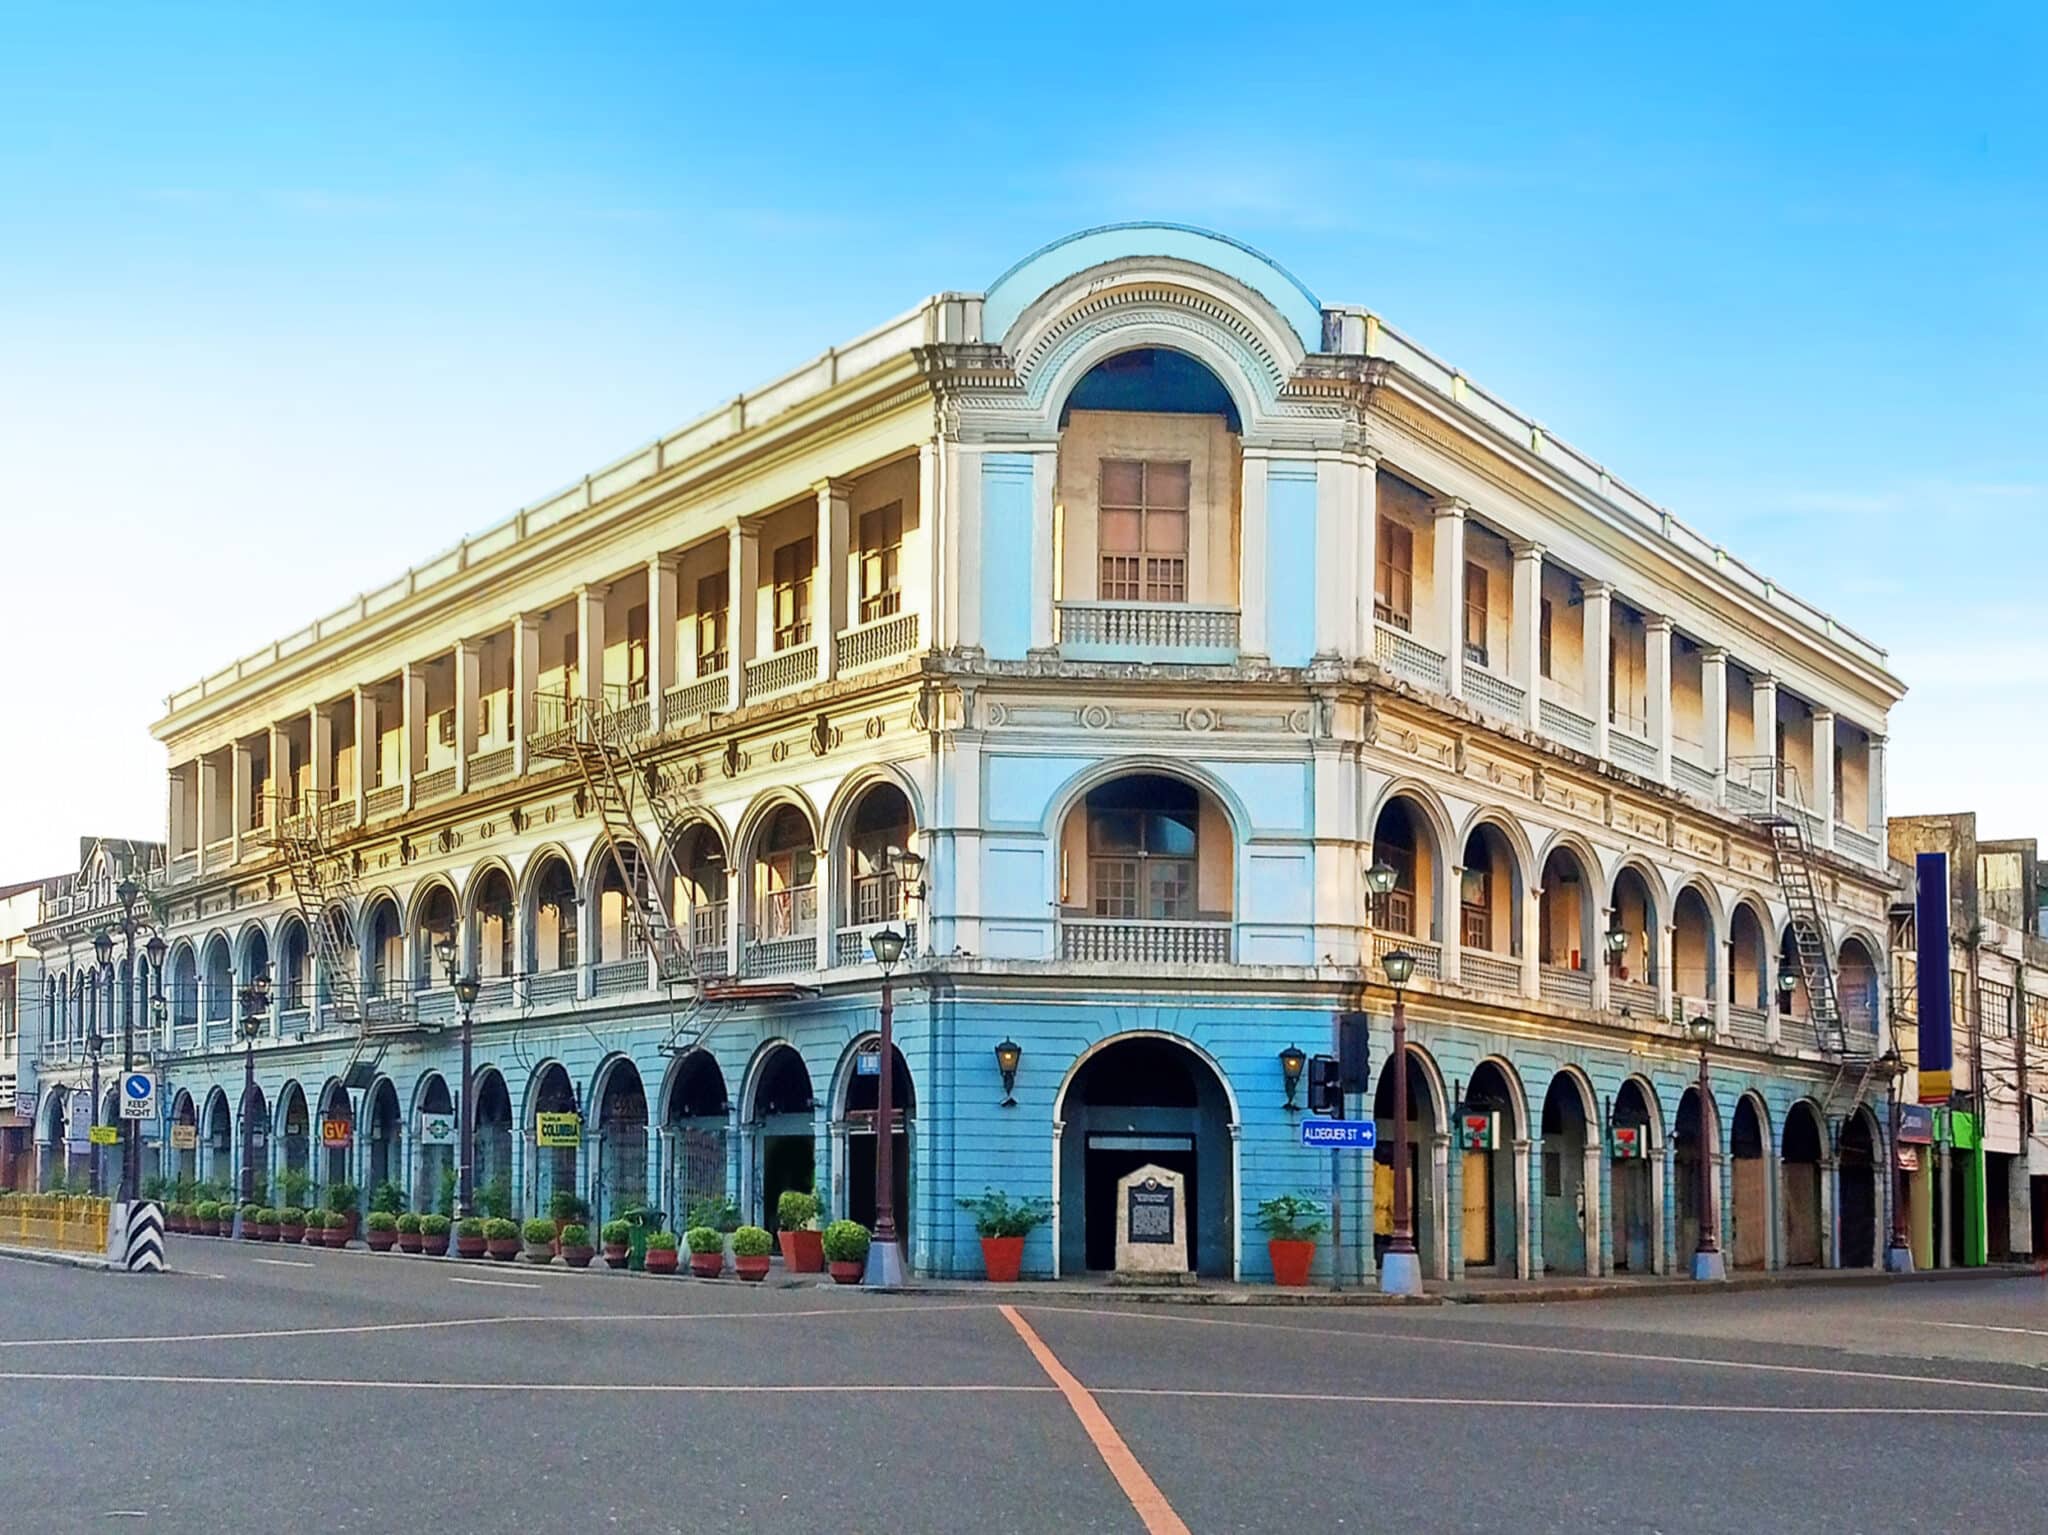
<path id="1" fill-rule="evenodd" d="M 2038 6 L 0 6 L 0 882 L 164 698 L 1016 258 L 1206 225 L 1888 647 L 2048 839 Z"/>

